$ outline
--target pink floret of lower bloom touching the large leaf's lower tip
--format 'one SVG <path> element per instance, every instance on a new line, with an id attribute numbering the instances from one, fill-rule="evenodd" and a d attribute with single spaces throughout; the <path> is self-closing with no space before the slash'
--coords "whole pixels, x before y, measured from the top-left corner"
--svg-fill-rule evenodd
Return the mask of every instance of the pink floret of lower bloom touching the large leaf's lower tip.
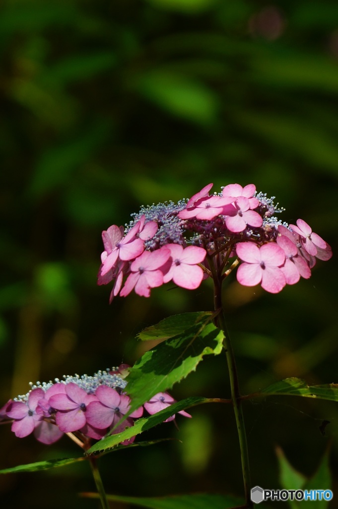
<path id="1" fill-rule="evenodd" d="M 99 430 L 114 428 L 122 415 L 129 412 L 130 398 L 126 394 L 119 394 L 115 389 L 100 385 L 96 389 L 97 401 L 89 403 L 87 408 L 87 422 Z M 143 408 L 140 407 L 130 414 L 130 417 L 141 417 Z"/>

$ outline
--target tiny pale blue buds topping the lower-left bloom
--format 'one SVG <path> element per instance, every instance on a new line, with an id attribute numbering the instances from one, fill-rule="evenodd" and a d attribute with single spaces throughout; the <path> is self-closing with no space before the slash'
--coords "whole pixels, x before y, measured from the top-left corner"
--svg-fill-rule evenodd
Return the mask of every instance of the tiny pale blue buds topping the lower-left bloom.
<path id="1" fill-rule="evenodd" d="M 20 394 L 16 398 L 13 398 L 13 401 L 27 401 L 28 395 L 30 391 L 33 389 L 43 389 L 45 392 L 49 387 L 54 385 L 54 383 L 76 383 L 81 389 L 84 389 L 87 394 L 94 394 L 96 389 L 99 387 L 99 385 L 107 385 L 108 387 L 112 388 L 120 388 L 124 389 L 127 385 L 126 380 L 120 378 L 117 375 L 111 375 L 110 372 L 117 371 L 116 367 L 112 367 L 109 369 L 107 367 L 106 370 L 99 370 L 97 373 L 95 373 L 93 376 L 91 375 L 64 375 L 63 379 L 60 380 L 59 378 L 55 378 L 54 382 L 51 380 L 49 382 L 36 382 L 33 384 L 32 382 L 29 382 L 30 390 L 26 394 Z"/>

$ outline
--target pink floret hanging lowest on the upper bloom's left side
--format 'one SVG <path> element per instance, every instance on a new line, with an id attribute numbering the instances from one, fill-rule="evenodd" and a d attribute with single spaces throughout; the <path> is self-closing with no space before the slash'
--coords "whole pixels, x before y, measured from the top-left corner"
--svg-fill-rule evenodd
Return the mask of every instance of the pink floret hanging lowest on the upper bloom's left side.
<path id="1" fill-rule="evenodd" d="M 135 293 L 150 296 L 150 289 L 163 285 L 162 267 L 170 258 L 170 250 L 161 247 L 157 251 L 144 251 L 130 266 L 128 276 L 120 295 L 126 297 L 135 288 Z"/>

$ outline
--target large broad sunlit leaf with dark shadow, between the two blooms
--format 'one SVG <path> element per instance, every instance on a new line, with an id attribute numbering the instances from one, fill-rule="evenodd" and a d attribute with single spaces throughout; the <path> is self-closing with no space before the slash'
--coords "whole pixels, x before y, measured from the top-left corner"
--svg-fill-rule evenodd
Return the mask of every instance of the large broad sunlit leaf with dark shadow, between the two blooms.
<path id="1" fill-rule="evenodd" d="M 132 399 L 130 412 L 195 371 L 204 355 L 219 354 L 223 337 L 213 323 L 202 323 L 142 355 L 127 377 L 127 392 Z"/>

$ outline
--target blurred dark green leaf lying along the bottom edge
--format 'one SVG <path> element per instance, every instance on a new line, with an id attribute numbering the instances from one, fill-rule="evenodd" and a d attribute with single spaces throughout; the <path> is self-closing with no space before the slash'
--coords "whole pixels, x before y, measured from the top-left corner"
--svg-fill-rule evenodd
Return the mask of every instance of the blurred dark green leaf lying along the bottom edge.
<path id="1" fill-rule="evenodd" d="M 98 493 L 82 493 L 86 498 L 98 498 Z M 218 495 L 208 493 L 193 493 L 190 495 L 171 495 L 168 497 L 122 497 L 107 495 L 112 502 L 126 502 L 147 507 L 148 509 L 229 509 L 240 506 L 242 499 L 232 495 Z"/>

